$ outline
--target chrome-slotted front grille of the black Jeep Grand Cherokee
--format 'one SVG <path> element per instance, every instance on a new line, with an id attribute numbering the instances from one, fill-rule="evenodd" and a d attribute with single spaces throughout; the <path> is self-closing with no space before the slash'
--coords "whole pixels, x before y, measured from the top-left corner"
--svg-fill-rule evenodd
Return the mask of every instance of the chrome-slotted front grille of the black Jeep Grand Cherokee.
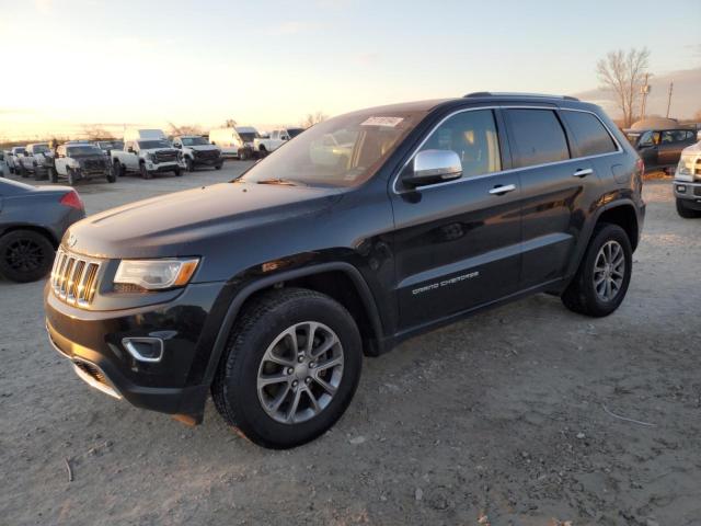
<path id="1" fill-rule="evenodd" d="M 51 270 L 54 294 L 70 305 L 88 307 L 95 297 L 100 263 L 58 249 Z"/>

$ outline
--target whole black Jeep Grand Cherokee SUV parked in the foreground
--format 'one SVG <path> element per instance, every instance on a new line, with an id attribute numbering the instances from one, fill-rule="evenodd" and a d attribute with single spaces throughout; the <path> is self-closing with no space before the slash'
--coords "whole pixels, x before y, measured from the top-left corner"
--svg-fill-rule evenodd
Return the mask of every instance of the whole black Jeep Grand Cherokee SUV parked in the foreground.
<path id="1" fill-rule="evenodd" d="M 566 96 L 349 113 L 235 181 L 73 225 L 48 334 L 115 398 L 199 423 L 211 391 L 253 442 L 296 446 L 343 414 L 364 354 L 536 293 L 614 311 L 642 171 L 598 106 Z"/>

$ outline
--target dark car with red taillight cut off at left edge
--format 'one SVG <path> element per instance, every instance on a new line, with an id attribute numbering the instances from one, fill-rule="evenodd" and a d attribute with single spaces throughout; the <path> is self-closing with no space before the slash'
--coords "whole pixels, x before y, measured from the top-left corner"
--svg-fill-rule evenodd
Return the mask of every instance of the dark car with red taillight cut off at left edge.
<path id="1" fill-rule="evenodd" d="M 83 217 L 72 188 L 0 181 L 0 275 L 21 283 L 46 276 L 64 232 Z"/>

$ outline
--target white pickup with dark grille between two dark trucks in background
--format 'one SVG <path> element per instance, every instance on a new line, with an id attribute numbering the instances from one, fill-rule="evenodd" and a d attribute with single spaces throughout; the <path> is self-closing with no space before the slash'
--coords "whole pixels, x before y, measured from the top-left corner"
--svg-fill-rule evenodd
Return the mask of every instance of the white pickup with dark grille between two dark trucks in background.
<path id="1" fill-rule="evenodd" d="M 151 179 L 154 173 L 181 174 L 185 168 L 182 153 L 171 146 L 160 129 L 133 129 L 124 134 L 124 149 L 110 151 L 115 176 L 140 173 Z"/>

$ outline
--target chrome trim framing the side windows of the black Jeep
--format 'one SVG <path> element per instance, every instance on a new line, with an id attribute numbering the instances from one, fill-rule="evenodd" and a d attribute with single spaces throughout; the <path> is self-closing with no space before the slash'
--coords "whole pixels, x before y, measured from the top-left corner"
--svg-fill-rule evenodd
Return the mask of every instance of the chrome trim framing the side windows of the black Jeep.
<path id="1" fill-rule="evenodd" d="M 435 187 L 440 187 L 440 186 L 446 186 L 449 184 L 459 184 L 459 183 L 464 183 L 466 181 L 475 181 L 478 179 L 484 179 L 484 178 L 492 178 L 495 175 L 499 175 L 503 173 L 509 173 L 509 172 L 515 172 L 515 171 L 520 171 L 520 170 L 530 170 L 533 168 L 540 168 L 540 167 L 549 167 L 549 165 L 553 165 L 553 164 L 563 164 L 565 162 L 572 162 L 574 160 L 577 159 L 595 159 L 598 157 L 606 157 L 606 156 L 616 156 L 619 155 L 621 152 L 623 152 L 623 148 L 621 147 L 618 138 L 611 133 L 609 126 L 601 119 L 601 117 L 599 117 L 595 112 L 591 112 L 589 110 L 579 110 L 579 108 L 575 108 L 575 107 L 560 107 L 560 106 L 555 106 L 555 105 L 538 105 L 538 104 L 533 104 L 533 105 L 529 105 L 529 104 L 499 104 L 499 105 L 491 105 L 491 106 L 472 106 L 472 107 L 462 107 L 460 110 L 456 110 L 447 115 L 445 115 L 444 117 L 441 117 L 436 124 L 434 124 L 432 126 L 432 128 L 428 130 L 427 134 L 425 134 L 422 138 L 422 140 L 420 140 L 418 145 L 416 145 L 415 147 L 412 148 L 411 153 L 407 156 L 406 160 L 402 163 L 399 164 L 399 167 L 394 170 L 394 173 L 392 175 L 392 178 L 390 179 L 391 181 L 391 190 L 394 194 L 397 195 L 402 195 L 402 194 L 406 194 L 406 193 L 411 193 L 411 192 L 416 192 L 415 190 L 403 190 L 398 187 L 398 182 L 399 179 L 402 174 L 402 172 L 404 171 L 404 169 L 409 165 L 409 163 L 412 161 L 412 159 L 414 159 L 414 156 L 416 156 L 416 153 L 421 150 L 421 148 L 424 146 L 424 144 L 428 140 L 428 138 L 432 136 L 432 134 L 446 121 L 448 121 L 450 117 L 452 117 L 453 115 L 457 115 L 458 113 L 463 113 L 463 112 L 475 112 L 479 110 L 492 110 L 494 111 L 494 115 L 495 115 L 495 121 L 498 125 L 504 126 L 504 118 L 502 117 L 502 112 L 504 110 L 510 110 L 510 108 L 518 108 L 518 110 L 550 110 L 553 112 L 559 112 L 559 111 L 567 111 L 567 112 L 582 112 L 582 113 L 588 113 L 590 115 L 594 115 L 604 126 L 604 128 L 606 129 L 606 132 L 611 136 L 611 139 L 613 140 L 613 144 L 616 145 L 616 151 L 610 151 L 607 153 L 599 153 L 596 156 L 585 156 L 585 157 L 577 157 L 577 158 L 571 158 L 571 159 L 565 159 L 564 161 L 554 161 L 554 162 L 545 162 L 542 164 L 532 164 L 530 167 L 527 168 L 513 168 L 514 164 L 512 162 L 512 152 L 510 152 L 510 144 L 508 142 L 509 140 L 509 136 L 508 136 L 508 132 L 506 132 L 506 127 L 499 127 L 498 128 L 498 138 L 499 138 L 499 144 L 502 144 L 502 141 L 505 141 L 508 145 L 508 152 L 509 152 L 509 157 L 508 158 L 502 158 L 502 170 L 498 172 L 491 172 L 491 173 L 485 173 L 482 175 L 474 175 L 472 178 L 469 179 L 453 179 L 452 181 L 446 181 L 444 183 L 435 183 L 435 184 L 427 184 L 426 186 L 422 186 L 421 187 L 421 192 L 427 191 L 427 190 L 432 190 Z M 502 132 L 505 132 L 504 135 L 502 135 Z M 505 161 L 508 160 L 508 164 L 509 168 L 505 168 Z"/>

